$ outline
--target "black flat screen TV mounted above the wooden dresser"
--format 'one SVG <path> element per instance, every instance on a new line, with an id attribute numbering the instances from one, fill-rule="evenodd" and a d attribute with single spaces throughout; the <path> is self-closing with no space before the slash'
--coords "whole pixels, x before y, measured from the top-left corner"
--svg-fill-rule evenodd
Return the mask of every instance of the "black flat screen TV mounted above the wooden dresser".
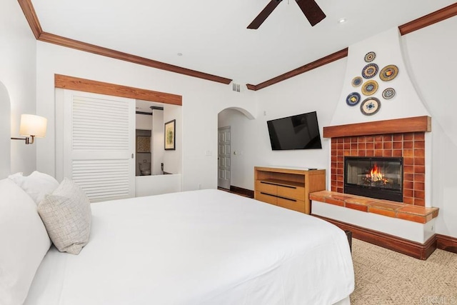
<path id="1" fill-rule="evenodd" d="M 267 121 L 271 149 L 322 149 L 316 111 Z"/>

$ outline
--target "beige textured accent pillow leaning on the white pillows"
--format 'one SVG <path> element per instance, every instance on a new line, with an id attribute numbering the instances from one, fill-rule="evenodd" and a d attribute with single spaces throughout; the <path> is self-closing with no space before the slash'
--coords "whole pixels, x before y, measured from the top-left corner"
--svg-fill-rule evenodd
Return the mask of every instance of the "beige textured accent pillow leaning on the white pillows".
<path id="1" fill-rule="evenodd" d="M 79 254 L 89 242 L 91 204 L 84 191 L 64 178 L 59 187 L 38 205 L 51 241 L 61 252 Z"/>

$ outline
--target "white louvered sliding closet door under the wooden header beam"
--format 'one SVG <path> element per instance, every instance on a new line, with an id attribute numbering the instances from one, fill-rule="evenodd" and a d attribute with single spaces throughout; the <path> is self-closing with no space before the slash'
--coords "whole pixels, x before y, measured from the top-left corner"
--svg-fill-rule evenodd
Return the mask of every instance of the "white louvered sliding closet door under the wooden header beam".
<path id="1" fill-rule="evenodd" d="M 64 176 L 91 202 L 135 196 L 135 100 L 64 92 Z"/>

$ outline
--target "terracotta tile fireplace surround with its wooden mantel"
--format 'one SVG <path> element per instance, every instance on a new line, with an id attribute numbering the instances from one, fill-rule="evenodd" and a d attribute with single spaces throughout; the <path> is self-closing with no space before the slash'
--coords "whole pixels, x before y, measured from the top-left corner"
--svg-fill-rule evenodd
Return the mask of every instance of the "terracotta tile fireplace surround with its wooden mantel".
<path id="1" fill-rule="evenodd" d="M 429 131 L 429 116 L 324 127 L 323 137 L 331 138 L 331 193 L 351 196 L 343 194 L 344 156 L 398 156 L 403 157 L 403 204 L 425 210 L 425 133 Z"/>

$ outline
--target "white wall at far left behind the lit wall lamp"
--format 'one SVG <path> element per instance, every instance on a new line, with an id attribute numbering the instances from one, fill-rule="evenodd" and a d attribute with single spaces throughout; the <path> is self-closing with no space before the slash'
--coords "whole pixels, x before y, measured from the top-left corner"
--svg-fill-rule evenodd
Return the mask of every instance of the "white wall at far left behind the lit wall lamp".
<path id="1" fill-rule="evenodd" d="M 1 3 L 0 81 L 6 87 L 11 101 L 11 136 L 21 137 L 21 114 L 43 114 L 35 112 L 36 40 L 17 1 Z M 11 140 L 11 172 L 30 174 L 35 168 L 36 145 Z"/>

